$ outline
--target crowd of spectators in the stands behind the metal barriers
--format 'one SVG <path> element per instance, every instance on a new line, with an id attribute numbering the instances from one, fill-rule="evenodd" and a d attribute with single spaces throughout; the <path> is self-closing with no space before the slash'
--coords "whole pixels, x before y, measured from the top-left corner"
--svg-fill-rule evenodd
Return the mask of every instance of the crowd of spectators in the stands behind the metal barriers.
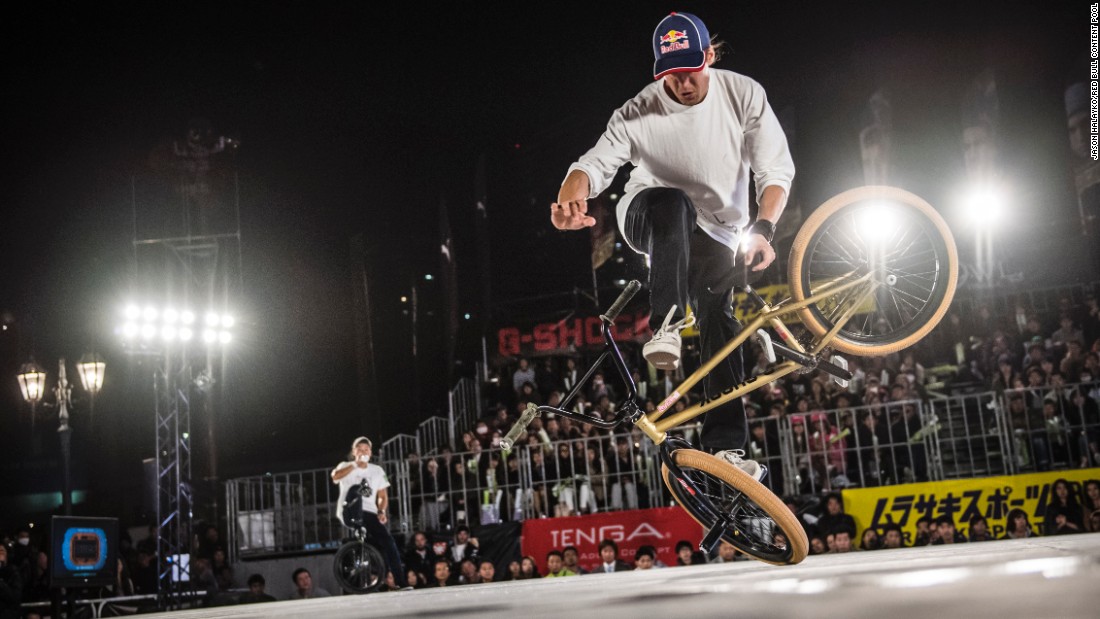
<path id="1" fill-rule="evenodd" d="M 928 421 L 921 418 L 920 401 L 930 389 L 961 387 L 1008 398 L 1010 421 L 1023 436 L 1021 469 L 1100 464 L 1100 308 L 1091 295 L 1080 307 L 1069 297 L 1057 306 L 1045 314 L 1020 308 L 999 316 L 988 306 L 957 310 L 913 349 L 848 358 L 853 378 L 845 386 L 821 372 L 762 386 L 744 398 L 749 456 L 768 465 L 765 483 L 777 494 L 927 480 L 928 457 L 919 439 Z M 692 346 L 685 340 L 688 358 Z M 657 372 L 638 350 L 622 349 L 640 402 L 654 410 L 684 369 Z M 767 369 L 755 341 L 746 356 L 750 375 Z M 492 405 L 462 433 L 461 445 L 409 455 L 417 526 L 450 530 L 458 523 L 662 505 L 668 497 L 652 496 L 661 493 L 660 484 L 645 483 L 654 479 L 648 442 L 629 425 L 608 431 L 547 414 L 531 422 L 516 449 L 499 450 L 501 438 L 530 404 L 560 408 L 568 401 L 574 412 L 613 419 L 626 384 L 608 366 L 578 386 L 588 361 L 573 354 L 499 367 L 485 398 Z M 684 395 L 673 411 L 702 396 Z M 692 438 L 691 428 L 681 433 Z M 781 440 L 784 433 L 789 441 Z M 783 478 L 784 455 L 795 463 L 793 485 Z"/>

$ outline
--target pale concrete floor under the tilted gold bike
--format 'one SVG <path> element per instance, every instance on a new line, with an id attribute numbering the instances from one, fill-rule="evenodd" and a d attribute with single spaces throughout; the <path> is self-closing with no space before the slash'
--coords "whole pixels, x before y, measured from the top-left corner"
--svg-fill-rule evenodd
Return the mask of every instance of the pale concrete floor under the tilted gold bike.
<path id="1" fill-rule="evenodd" d="M 1100 618 L 1100 534 L 597 574 L 164 614 L 222 617 Z"/>

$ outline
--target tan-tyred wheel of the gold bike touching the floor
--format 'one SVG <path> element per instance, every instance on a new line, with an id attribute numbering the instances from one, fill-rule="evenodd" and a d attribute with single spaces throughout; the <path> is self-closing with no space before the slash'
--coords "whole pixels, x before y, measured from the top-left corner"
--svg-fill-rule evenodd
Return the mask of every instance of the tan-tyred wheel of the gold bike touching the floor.
<path id="1" fill-rule="evenodd" d="M 722 533 L 723 540 L 752 559 L 774 565 L 792 565 L 806 557 L 810 541 L 799 519 L 760 482 L 733 464 L 697 450 L 676 450 L 672 452 L 672 458 L 697 487 L 707 488 L 707 498 L 717 501 L 719 509 L 730 509 L 729 504 L 736 502 L 735 494 L 743 495 L 752 504 L 738 507 L 739 513 L 730 513 L 735 517 L 735 522 Z M 671 477 L 666 465 L 661 465 L 661 477 L 680 507 L 704 530 L 708 530 L 716 515 L 710 512 L 702 498 L 689 494 L 684 486 Z M 773 528 L 778 528 L 787 537 L 785 548 L 774 544 L 772 540 L 762 539 L 774 534 Z"/>

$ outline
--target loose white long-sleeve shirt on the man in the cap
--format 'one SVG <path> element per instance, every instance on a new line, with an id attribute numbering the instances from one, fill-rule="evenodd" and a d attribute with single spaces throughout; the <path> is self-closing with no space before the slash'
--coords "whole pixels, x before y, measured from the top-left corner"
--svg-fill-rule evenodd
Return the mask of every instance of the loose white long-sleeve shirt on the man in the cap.
<path id="1" fill-rule="evenodd" d="M 616 110 L 596 145 L 570 166 L 588 176 L 590 198 L 624 164 L 636 166 L 616 208 L 620 231 L 639 191 L 671 187 L 691 198 L 704 232 L 736 250 L 749 223 L 749 176 L 757 196 L 770 185 L 790 192 L 794 162 L 763 87 L 744 75 L 708 70 L 710 87 L 698 104 L 680 103 L 662 80 L 654 81 Z"/>

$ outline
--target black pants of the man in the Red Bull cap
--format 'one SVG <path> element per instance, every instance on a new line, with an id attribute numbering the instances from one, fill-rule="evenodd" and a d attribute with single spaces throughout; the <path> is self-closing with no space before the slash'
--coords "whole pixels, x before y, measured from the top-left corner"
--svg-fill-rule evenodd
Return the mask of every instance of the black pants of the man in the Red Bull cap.
<path id="1" fill-rule="evenodd" d="M 660 328 L 673 305 L 673 322 L 683 318 L 691 303 L 704 361 L 740 332 L 730 295 L 738 275 L 744 277 L 739 273 L 744 265 L 738 264 L 733 250 L 695 225 L 695 207 L 686 194 L 669 188 L 638 194 L 627 209 L 626 235 L 631 245 L 649 254 L 650 328 Z M 744 379 L 745 360 L 739 347 L 711 371 L 703 380 L 703 390 L 708 399 L 715 398 Z M 705 450 L 713 453 L 744 449 L 747 439 L 740 398 L 704 416 Z"/>

